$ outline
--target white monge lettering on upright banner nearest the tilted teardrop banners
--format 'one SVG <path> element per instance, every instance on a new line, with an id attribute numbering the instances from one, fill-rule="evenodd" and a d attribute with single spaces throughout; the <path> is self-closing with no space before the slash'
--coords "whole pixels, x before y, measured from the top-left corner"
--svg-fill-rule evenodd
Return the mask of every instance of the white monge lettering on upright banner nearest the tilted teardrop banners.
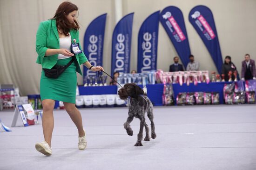
<path id="1" fill-rule="evenodd" d="M 150 40 L 152 35 L 149 32 L 143 34 L 142 50 L 143 50 L 143 62 L 141 72 L 151 70 L 151 57 L 152 57 L 152 44 Z"/>

